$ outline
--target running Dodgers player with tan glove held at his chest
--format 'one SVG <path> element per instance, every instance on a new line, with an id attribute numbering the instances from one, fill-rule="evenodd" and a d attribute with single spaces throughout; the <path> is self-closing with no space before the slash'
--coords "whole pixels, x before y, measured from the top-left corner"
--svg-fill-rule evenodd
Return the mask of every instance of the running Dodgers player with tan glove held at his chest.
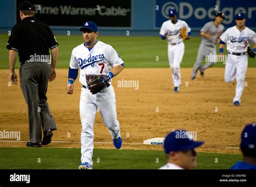
<path id="1" fill-rule="evenodd" d="M 165 21 L 161 26 L 160 36 L 163 40 L 167 39 L 174 92 L 178 92 L 181 84 L 180 63 L 185 50 L 183 40 L 190 39 L 191 28 L 185 21 L 177 19 L 176 9 L 170 9 L 169 16 L 170 20 Z"/>

